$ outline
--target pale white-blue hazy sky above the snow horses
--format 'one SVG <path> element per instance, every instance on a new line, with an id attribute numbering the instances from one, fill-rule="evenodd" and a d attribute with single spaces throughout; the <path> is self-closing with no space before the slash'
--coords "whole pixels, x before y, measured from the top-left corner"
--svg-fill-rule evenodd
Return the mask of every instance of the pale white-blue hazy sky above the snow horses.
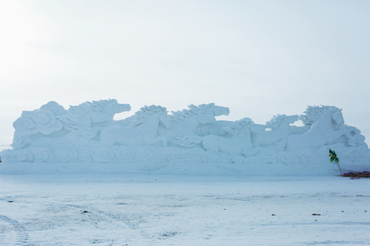
<path id="1" fill-rule="evenodd" d="M 0 144 L 23 110 L 116 98 L 219 119 L 343 109 L 370 139 L 370 1 L 0 0 Z M 131 113 L 123 113 L 124 118 Z"/>

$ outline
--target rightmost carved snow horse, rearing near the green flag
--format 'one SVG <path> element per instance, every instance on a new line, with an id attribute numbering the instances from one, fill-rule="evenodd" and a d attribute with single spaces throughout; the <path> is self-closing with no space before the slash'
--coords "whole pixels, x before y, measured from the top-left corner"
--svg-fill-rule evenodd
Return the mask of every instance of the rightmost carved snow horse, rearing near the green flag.
<path id="1" fill-rule="evenodd" d="M 286 150 L 301 150 L 338 142 L 343 135 L 351 137 L 354 127 L 343 127 L 344 120 L 341 109 L 334 106 L 309 106 L 306 115 L 300 118 L 310 130 L 303 134 L 290 135 L 286 139 Z"/>

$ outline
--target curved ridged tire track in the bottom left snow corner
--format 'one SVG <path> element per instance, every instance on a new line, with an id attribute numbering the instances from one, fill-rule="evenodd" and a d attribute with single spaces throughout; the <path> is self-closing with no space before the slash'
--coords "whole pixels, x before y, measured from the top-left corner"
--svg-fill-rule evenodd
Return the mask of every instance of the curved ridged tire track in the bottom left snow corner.
<path id="1" fill-rule="evenodd" d="M 27 245 L 28 233 L 18 221 L 0 215 L 0 245 Z"/>

